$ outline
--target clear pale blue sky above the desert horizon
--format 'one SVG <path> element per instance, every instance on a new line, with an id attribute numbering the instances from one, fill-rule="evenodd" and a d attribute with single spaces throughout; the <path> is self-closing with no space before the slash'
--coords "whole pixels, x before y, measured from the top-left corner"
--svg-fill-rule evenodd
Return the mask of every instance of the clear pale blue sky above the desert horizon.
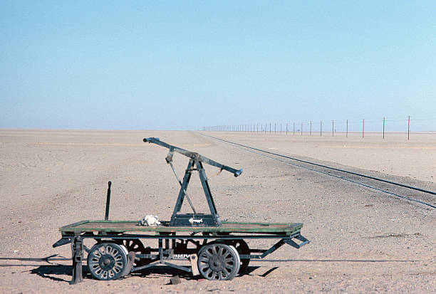
<path id="1" fill-rule="evenodd" d="M 435 15 L 436 1 L 1 0 L 0 127 L 435 119 Z"/>

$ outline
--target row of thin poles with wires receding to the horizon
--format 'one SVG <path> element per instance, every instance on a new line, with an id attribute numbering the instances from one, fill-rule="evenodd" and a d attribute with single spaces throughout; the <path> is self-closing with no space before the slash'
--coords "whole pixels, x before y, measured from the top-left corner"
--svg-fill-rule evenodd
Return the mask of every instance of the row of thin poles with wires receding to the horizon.
<path id="1" fill-rule="evenodd" d="M 348 133 L 361 133 L 361 136 L 365 137 L 365 125 L 366 132 L 368 133 L 368 125 L 370 125 L 370 132 L 375 132 L 374 130 L 378 130 L 377 132 L 383 134 L 383 139 L 385 139 L 386 127 L 389 123 L 395 122 L 398 126 L 401 123 L 404 128 L 403 132 L 408 133 L 408 140 L 410 140 L 410 132 L 411 132 L 411 122 L 422 122 L 422 121 L 435 121 L 436 118 L 417 118 L 411 119 L 410 115 L 403 120 L 386 120 L 383 117 L 383 120 L 318 120 L 318 121 L 305 121 L 305 122 L 280 122 L 280 123 L 258 123 L 258 124 L 249 124 L 249 125 L 215 125 L 209 127 L 203 127 L 204 131 L 218 131 L 218 132 L 256 132 L 256 133 L 269 133 L 269 134 L 286 134 L 286 135 L 301 135 L 303 133 L 308 133 L 308 135 L 329 135 L 332 137 L 335 136 L 336 132 L 345 133 L 346 137 L 348 137 Z M 358 124 L 359 130 L 355 130 L 355 125 Z M 378 127 L 376 127 L 378 125 Z M 352 127 L 353 126 L 353 127 Z M 339 128 L 339 131 L 338 131 Z M 435 130 L 427 130 L 428 132 L 432 132 Z M 414 131 L 418 132 L 418 131 Z M 422 132 L 422 130 L 421 130 Z"/>

